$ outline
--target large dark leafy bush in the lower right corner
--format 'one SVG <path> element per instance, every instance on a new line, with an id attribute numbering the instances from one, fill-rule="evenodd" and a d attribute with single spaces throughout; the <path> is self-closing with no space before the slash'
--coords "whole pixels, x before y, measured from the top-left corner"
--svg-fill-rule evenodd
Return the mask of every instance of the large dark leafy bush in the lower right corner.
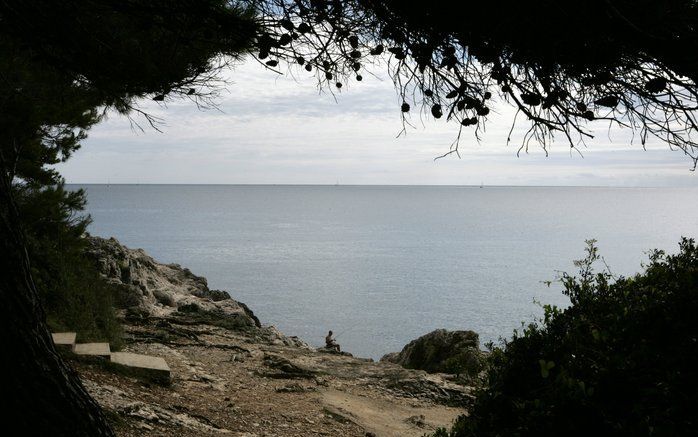
<path id="1" fill-rule="evenodd" d="M 698 434 L 698 247 L 654 251 L 645 271 L 595 273 L 588 241 L 571 305 L 495 348 L 469 416 L 437 436 Z"/>

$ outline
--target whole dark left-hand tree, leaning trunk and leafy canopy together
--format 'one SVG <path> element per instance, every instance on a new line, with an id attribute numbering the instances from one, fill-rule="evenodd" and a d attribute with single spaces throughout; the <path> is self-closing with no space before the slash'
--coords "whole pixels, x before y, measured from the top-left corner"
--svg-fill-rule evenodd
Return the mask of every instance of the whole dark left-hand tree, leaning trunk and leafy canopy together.
<path id="1" fill-rule="evenodd" d="M 106 110 L 139 111 L 147 96 L 206 101 L 217 69 L 255 32 L 225 0 L 0 2 L 0 341 L 10 353 L 0 407 L 23 434 L 112 434 L 56 353 L 36 287 L 60 283 L 52 259 L 74 259 L 50 235 L 72 241 L 83 228 L 68 211 L 82 194 L 47 166 L 68 159 Z M 31 217 L 61 223 L 23 222 Z"/>

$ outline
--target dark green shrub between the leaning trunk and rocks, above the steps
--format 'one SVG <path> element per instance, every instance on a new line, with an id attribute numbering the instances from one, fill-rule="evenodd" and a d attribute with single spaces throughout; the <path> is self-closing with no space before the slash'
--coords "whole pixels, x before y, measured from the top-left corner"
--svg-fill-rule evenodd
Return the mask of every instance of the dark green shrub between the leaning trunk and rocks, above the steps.
<path id="1" fill-rule="evenodd" d="M 109 341 L 121 345 L 121 327 L 114 314 L 116 290 L 85 255 L 82 237 L 90 221 L 80 215 L 84 192 L 18 185 L 15 198 L 27 235 L 32 279 L 53 331 L 75 331 L 78 341 Z"/>

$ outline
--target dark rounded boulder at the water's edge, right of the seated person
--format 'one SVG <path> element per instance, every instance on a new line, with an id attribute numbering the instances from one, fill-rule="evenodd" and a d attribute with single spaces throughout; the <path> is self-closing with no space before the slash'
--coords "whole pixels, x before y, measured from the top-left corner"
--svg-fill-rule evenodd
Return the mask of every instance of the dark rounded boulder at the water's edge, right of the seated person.
<path id="1" fill-rule="evenodd" d="M 408 343 L 400 352 L 384 355 L 382 362 L 429 373 L 474 376 L 482 369 L 479 336 L 474 331 L 437 329 Z"/>

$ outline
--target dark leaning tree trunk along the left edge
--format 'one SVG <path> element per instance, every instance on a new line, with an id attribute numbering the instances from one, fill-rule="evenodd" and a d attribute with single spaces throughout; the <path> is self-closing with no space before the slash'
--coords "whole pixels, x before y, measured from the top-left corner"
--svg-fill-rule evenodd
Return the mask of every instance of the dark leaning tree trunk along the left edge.
<path id="1" fill-rule="evenodd" d="M 101 408 L 56 352 L 8 173 L 0 171 L 0 411 L 17 435 L 112 436 Z"/>

